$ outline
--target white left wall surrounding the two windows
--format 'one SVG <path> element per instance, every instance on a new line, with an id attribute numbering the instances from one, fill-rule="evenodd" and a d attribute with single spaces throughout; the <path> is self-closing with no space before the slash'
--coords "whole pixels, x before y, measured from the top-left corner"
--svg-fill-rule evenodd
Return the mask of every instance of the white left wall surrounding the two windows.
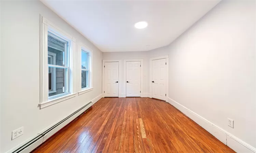
<path id="1" fill-rule="evenodd" d="M 93 49 L 93 91 L 39 109 L 39 14 Z M 77 53 L 78 54 L 78 53 Z M 78 65 L 75 82 L 78 86 Z M 1 1 L 1 151 L 6 152 L 101 94 L 102 52 L 40 1 Z M 24 135 L 11 140 L 13 130 Z"/>

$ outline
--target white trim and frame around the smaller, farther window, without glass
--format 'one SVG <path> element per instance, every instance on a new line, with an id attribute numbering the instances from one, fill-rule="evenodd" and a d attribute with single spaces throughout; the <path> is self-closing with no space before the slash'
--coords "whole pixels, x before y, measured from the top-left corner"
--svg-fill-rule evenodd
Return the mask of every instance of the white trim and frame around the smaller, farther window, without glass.
<path id="1" fill-rule="evenodd" d="M 87 69 L 83 69 L 83 70 L 86 70 L 86 71 L 89 71 L 89 87 L 86 87 L 86 88 L 82 88 L 81 87 L 81 84 L 82 84 L 82 76 L 81 76 L 81 73 L 82 73 L 82 60 L 81 60 L 81 53 L 82 51 L 85 51 L 88 53 L 88 68 Z M 89 47 L 87 47 L 86 45 L 84 45 L 83 43 L 80 42 L 79 44 L 79 92 L 78 92 L 78 95 L 82 95 L 86 92 L 89 92 L 91 90 L 93 90 L 93 50 L 90 49 Z"/>

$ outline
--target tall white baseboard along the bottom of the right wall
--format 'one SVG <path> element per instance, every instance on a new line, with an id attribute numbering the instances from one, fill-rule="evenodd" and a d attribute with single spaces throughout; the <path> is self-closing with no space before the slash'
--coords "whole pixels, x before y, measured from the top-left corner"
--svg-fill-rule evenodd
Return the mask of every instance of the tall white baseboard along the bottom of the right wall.
<path id="1" fill-rule="evenodd" d="M 177 103 L 176 101 L 168 98 L 168 101 L 171 105 L 179 109 L 182 113 L 188 116 L 190 119 L 195 121 L 198 125 L 204 128 L 206 131 L 211 133 L 225 145 L 233 149 L 238 153 L 256 153 L 256 149 L 249 145 L 248 143 L 240 140 L 239 138 L 231 135 L 230 133 L 226 132 L 225 130 L 219 128 L 217 125 L 214 125 L 210 121 L 206 120 L 205 118 L 199 116 L 195 112 L 191 111 L 187 107 Z"/>

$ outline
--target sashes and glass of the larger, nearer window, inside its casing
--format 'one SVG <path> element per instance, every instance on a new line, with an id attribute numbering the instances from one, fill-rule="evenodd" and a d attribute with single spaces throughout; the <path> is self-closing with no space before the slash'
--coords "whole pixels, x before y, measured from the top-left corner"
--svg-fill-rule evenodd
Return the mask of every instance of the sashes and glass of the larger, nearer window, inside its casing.
<path id="1" fill-rule="evenodd" d="M 70 41 L 48 29 L 48 99 L 69 93 Z M 54 56 L 55 60 L 54 60 Z M 56 56 L 57 55 L 57 56 Z M 50 58 L 49 58 L 50 57 Z M 49 62 L 49 60 L 53 60 Z M 50 73 L 51 72 L 51 73 Z M 52 75 L 53 74 L 53 75 Z M 52 78 L 52 79 L 51 79 Z M 52 90 L 53 89 L 53 90 Z"/>

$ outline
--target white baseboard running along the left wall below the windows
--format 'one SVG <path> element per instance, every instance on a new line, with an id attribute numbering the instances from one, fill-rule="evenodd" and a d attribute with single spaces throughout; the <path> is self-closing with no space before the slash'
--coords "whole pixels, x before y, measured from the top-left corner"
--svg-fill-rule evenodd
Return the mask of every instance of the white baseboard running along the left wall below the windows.
<path id="1" fill-rule="evenodd" d="M 88 109 L 90 106 L 92 106 L 93 104 L 95 104 L 97 101 L 99 101 L 102 98 L 103 94 L 100 94 L 99 96 L 95 97 L 94 99 L 92 99 L 89 102 L 92 102 L 92 104 L 87 105 L 85 108 L 81 109 L 79 112 L 77 112 L 76 114 L 74 114 L 72 117 L 70 117 L 69 119 L 65 120 L 64 122 L 62 122 L 61 124 L 59 124 L 56 128 L 54 128 L 53 130 L 51 130 L 50 132 L 48 132 L 44 137 L 40 138 L 39 140 L 35 141 L 34 143 L 32 143 L 30 146 L 28 146 L 26 149 L 22 150 L 20 153 L 28 153 L 31 152 L 32 150 L 34 150 L 35 148 L 37 148 L 39 145 L 41 145 L 41 143 L 43 143 L 44 141 L 47 140 L 47 138 L 51 137 L 52 135 L 54 135 L 56 132 L 58 132 L 60 129 L 62 129 L 64 126 L 66 126 L 68 123 L 70 123 L 73 119 L 75 119 L 77 116 L 79 116 L 80 114 L 82 114 L 84 111 L 86 111 L 86 109 Z M 86 104 L 85 104 L 86 105 Z M 81 108 L 81 107 L 80 107 Z M 7 151 L 6 153 L 12 153 L 14 152 L 16 149 L 18 149 L 19 147 L 23 146 L 24 144 L 26 144 L 27 142 L 29 142 L 30 140 L 32 140 L 33 138 L 37 137 L 38 135 L 42 134 L 43 132 L 45 132 L 46 130 L 48 130 L 49 128 L 51 128 L 53 125 L 57 124 L 58 122 L 60 122 L 61 120 L 67 118 L 69 115 L 73 114 L 74 112 L 78 111 L 80 108 L 72 111 L 71 113 L 69 113 L 68 115 L 64 116 L 63 118 L 61 118 L 60 120 L 54 122 L 53 124 L 49 125 L 47 128 L 43 129 L 42 131 L 40 131 L 37 135 L 27 139 L 26 141 L 20 143 L 19 145 L 17 145 L 16 147 L 12 148 L 11 150 Z"/>

